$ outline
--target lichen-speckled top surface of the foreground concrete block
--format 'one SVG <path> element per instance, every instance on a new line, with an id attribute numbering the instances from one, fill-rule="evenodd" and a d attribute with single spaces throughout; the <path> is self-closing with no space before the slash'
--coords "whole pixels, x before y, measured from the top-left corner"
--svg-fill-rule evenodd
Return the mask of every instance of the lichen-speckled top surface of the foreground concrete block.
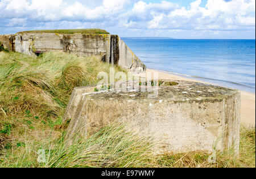
<path id="1" fill-rule="evenodd" d="M 184 101 L 189 99 L 189 101 L 223 101 L 224 99 L 229 99 L 230 96 L 238 93 L 236 90 L 229 88 L 224 88 L 220 86 L 212 86 L 209 84 L 195 83 L 195 82 L 185 82 L 185 81 L 171 81 L 167 84 L 176 83 L 176 85 L 164 85 L 164 86 L 150 86 L 145 87 L 146 91 L 142 92 L 142 86 L 137 88 L 129 88 L 127 84 L 127 91 L 102 91 L 97 93 L 90 93 L 88 98 L 92 99 L 102 99 L 108 100 L 109 98 L 115 98 L 117 100 L 136 100 L 136 99 L 147 99 L 148 95 L 154 91 L 154 88 L 157 88 L 158 96 L 155 100 L 165 100 L 165 101 Z M 149 90 L 147 90 L 149 88 Z M 138 92 L 136 92 L 138 91 Z M 129 95 L 134 95 L 130 97 L 129 95 L 124 96 L 123 93 L 128 93 Z M 106 95 L 108 94 L 108 95 Z M 149 99 L 147 99 L 149 100 Z"/>

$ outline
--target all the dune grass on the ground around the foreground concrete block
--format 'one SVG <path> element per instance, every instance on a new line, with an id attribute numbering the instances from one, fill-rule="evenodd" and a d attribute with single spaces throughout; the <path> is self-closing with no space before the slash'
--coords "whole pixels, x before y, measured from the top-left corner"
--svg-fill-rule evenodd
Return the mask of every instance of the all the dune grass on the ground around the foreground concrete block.
<path id="1" fill-rule="evenodd" d="M 117 124 L 66 146 L 60 126 L 69 96 L 74 87 L 96 84 L 100 71 L 109 72 L 100 59 L 0 52 L 0 167 L 255 167 L 255 127 L 241 127 L 239 157 L 233 150 L 217 152 L 214 163 L 202 152 L 154 155 L 150 138 Z"/>

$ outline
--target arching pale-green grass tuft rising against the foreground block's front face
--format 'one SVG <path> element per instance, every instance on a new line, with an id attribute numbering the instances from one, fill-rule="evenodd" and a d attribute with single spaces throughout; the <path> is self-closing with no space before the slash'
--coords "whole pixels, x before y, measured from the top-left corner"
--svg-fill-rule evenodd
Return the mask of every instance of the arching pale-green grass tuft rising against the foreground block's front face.
<path id="1" fill-rule="evenodd" d="M 149 139 L 112 125 L 69 147 L 61 144 L 44 167 L 147 167 L 152 156 Z"/>

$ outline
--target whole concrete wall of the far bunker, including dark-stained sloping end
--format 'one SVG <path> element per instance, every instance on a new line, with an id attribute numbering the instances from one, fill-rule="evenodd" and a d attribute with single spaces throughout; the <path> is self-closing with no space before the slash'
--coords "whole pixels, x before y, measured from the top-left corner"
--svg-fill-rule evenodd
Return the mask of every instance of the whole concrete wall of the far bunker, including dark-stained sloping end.
<path id="1" fill-rule="evenodd" d="M 104 62 L 135 72 L 146 71 L 146 66 L 117 35 L 20 32 L 0 35 L 0 41 L 5 48 L 14 52 L 31 55 L 63 51 L 79 56 L 100 55 Z"/>

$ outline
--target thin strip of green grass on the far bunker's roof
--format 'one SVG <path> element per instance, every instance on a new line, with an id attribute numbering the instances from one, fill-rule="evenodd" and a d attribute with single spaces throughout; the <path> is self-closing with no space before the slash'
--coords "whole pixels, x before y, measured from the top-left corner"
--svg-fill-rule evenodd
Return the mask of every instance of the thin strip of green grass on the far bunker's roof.
<path id="1" fill-rule="evenodd" d="M 23 31 L 21 33 L 26 32 L 38 32 L 38 33 L 95 33 L 95 34 L 109 34 L 109 32 L 97 29 L 97 28 L 90 28 L 90 29 L 56 29 L 56 30 L 35 30 L 35 31 Z"/>

